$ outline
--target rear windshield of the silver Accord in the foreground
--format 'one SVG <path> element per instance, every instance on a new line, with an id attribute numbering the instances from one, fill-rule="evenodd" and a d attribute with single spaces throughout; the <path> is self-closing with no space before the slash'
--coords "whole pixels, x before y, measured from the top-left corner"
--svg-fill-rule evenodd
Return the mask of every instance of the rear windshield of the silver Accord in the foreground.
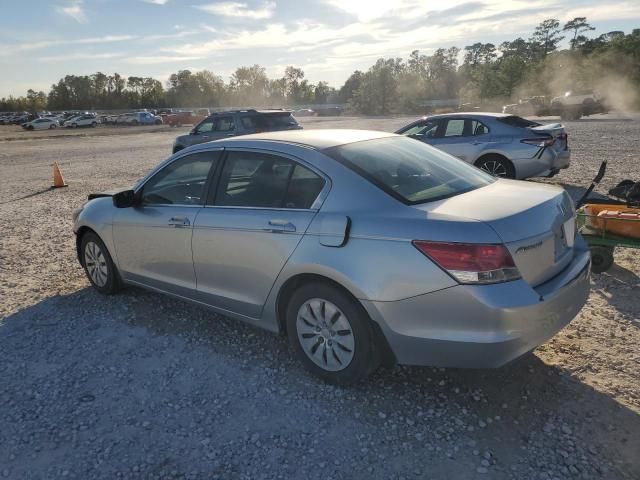
<path id="1" fill-rule="evenodd" d="M 440 150 L 407 137 L 386 137 L 324 151 L 407 205 L 453 197 L 495 178 Z"/>

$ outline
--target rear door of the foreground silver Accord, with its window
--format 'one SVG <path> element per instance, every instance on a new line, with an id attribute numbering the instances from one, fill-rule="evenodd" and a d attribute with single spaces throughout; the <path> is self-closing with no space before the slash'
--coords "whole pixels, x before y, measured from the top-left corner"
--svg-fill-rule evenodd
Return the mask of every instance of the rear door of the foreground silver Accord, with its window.
<path id="1" fill-rule="evenodd" d="M 259 318 L 328 180 L 293 158 L 234 149 L 217 183 L 194 227 L 198 294 L 221 309 Z"/>

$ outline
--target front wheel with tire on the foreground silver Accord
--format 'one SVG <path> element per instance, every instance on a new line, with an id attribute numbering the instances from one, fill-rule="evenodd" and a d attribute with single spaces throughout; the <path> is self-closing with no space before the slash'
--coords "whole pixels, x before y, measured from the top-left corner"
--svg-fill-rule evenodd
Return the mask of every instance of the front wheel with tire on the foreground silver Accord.
<path id="1" fill-rule="evenodd" d="M 109 295 L 120 289 L 120 277 L 100 237 L 87 232 L 80 243 L 82 266 L 91 285 L 100 293 Z"/>

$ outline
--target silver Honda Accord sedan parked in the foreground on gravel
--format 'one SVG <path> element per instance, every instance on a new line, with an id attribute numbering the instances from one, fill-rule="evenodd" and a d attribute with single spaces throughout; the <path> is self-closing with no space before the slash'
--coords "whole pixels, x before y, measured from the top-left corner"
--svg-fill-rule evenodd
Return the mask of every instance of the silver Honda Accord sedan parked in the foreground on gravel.
<path id="1" fill-rule="evenodd" d="M 410 138 L 263 133 L 174 154 L 74 213 L 101 293 L 138 285 L 288 336 L 348 384 L 379 365 L 498 367 L 584 305 L 569 196 Z"/>

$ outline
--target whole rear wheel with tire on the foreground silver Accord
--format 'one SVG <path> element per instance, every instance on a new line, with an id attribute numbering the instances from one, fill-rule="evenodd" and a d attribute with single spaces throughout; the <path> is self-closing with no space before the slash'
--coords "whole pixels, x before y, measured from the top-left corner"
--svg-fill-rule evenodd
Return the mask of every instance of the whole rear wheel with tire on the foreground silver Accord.
<path id="1" fill-rule="evenodd" d="M 349 385 L 380 365 L 371 320 L 357 301 L 328 284 L 294 292 L 287 312 L 289 343 L 304 366 L 329 383 Z"/>

